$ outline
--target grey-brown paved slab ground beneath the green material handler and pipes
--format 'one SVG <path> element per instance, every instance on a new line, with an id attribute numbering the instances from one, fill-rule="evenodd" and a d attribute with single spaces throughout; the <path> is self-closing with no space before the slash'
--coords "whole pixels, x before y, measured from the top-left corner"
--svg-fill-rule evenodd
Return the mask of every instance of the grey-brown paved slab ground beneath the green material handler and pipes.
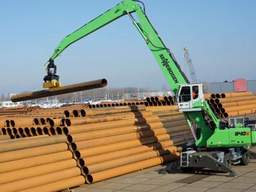
<path id="1" fill-rule="evenodd" d="M 180 172 L 164 174 L 161 170 L 166 165 L 154 166 L 138 172 L 129 173 L 95 184 L 83 184 L 75 188 L 76 192 L 86 191 L 256 191 L 256 160 L 251 160 L 248 166 L 233 166 L 237 177 L 227 177 L 227 173 L 208 173 L 195 175 Z"/>

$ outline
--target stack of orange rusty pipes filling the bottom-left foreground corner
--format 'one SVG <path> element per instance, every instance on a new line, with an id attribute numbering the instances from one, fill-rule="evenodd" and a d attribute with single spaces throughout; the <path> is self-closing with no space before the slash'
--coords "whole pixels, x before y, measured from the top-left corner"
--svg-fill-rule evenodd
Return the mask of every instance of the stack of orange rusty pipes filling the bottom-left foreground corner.
<path id="1" fill-rule="evenodd" d="M 0 191 L 61 191 L 85 182 L 67 137 L 0 141 Z"/>

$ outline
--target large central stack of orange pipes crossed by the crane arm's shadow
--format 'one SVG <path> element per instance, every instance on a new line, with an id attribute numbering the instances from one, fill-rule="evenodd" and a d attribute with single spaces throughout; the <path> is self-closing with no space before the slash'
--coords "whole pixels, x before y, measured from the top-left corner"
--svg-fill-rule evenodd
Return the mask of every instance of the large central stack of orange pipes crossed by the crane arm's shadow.
<path id="1" fill-rule="evenodd" d="M 67 135 L 89 184 L 177 159 L 181 148 L 175 145 L 192 139 L 175 106 L 85 109 L 83 114 L 66 118 L 57 132 Z"/>

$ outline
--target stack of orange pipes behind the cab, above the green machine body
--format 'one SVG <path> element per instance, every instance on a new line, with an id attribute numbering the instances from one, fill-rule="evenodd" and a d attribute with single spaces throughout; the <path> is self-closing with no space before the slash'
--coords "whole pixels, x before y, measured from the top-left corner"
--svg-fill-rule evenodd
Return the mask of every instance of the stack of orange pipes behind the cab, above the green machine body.
<path id="1" fill-rule="evenodd" d="M 209 104 L 220 118 L 246 116 L 256 112 L 256 96 L 252 92 L 212 94 Z"/>

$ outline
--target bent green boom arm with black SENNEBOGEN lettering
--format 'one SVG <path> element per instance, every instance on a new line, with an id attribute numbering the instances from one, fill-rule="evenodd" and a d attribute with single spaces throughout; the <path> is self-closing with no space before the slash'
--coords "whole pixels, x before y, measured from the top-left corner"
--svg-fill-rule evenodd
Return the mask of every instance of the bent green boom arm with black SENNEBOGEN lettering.
<path id="1" fill-rule="evenodd" d="M 133 19 L 131 13 L 136 12 L 138 15 L 138 19 L 140 23 L 136 22 Z M 69 45 L 73 44 L 77 40 L 83 38 L 86 35 L 89 35 L 93 31 L 102 28 L 109 22 L 118 19 L 124 15 L 129 15 L 132 20 L 132 23 L 138 29 L 141 36 L 145 40 L 148 45 L 148 48 L 154 54 L 154 57 L 159 64 L 159 67 L 164 73 L 170 88 L 172 88 L 173 92 L 176 94 L 180 84 L 189 83 L 188 79 L 182 72 L 179 67 L 177 61 L 172 56 L 172 53 L 169 51 L 168 48 L 165 47 L 161 38 L 157 34 L 156 30 L 150 24 L 147 15 L 141 7 L 134 2 L 133 0 L 125 0 L 121 3 L 117 4 L 114 8 L 111 8 L 107 12 L 99 15 L 99 17 L 93 19 L 92 21 L 85 24 L 83 27 L 77 29 L 70 35 L 63 38 L 61 43 L 54 49 L 54 52 L 50 58 L 50 60 L 54 60 L 57 58 L 62 51 L 64 51 Z"/>

